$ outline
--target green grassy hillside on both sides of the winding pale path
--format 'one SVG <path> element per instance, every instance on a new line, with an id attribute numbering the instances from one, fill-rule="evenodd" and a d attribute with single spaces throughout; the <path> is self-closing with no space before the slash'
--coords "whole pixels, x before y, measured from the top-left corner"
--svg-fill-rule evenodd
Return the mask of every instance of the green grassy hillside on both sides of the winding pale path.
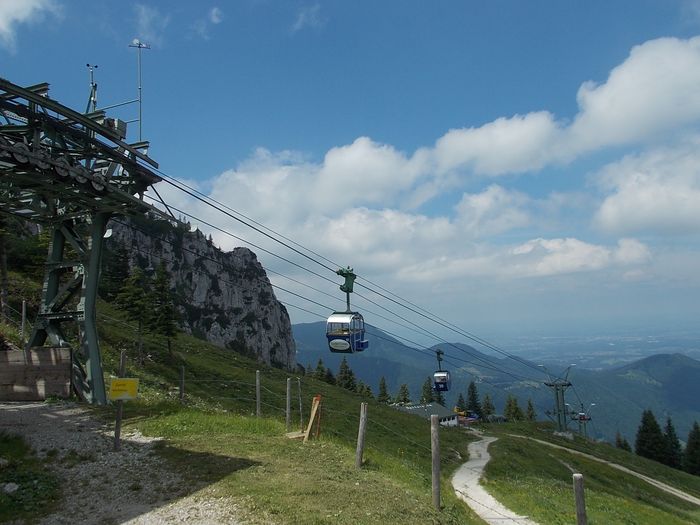
<path id="1" fill-rule="evenodd" d="M 105 317 L 105 315 L 107 317 Z M 128 349 L 128 375 L 141 378 L 141 399 L 125 408 L 125 423 L 166 438 L 160 453 L 185 473 L 192 487 L 231 496 L 255 523 L 481 523 L 451 490 L 449 478 L 466 459 L 469 437 L 441 431 L 444 508 L 431 505 L 430 437 L 426 421 L 370 401 L 365 466 L 354 468 L 359 404 L 350 392 L 301 378 L 305 416 L 313 395 L 323 395 L 321 439 L 306 445 L 284 437 L 287 373 L 261 368 L 263 417 L 254 417 L 255 369 L 240 355 L 179 336 L 175 354 L 146 338 L 144 366 L 136 366 L 133 327 L 101 305 L 106 371 L 117 368 L 117 351 Z M 180 367 L 187 400 L 177 402 Z M 294 421 L 299 426 L 294 381 Z M 112 408 L 102 411 L 112 417 Z M 584 441 L 557 439 L 537 426 L 491 426 L 486 485 L 500 501 L 542 524 L 572 523 L 571 469 L 586 479 L 590 523 L 698 523 L 697 507 L 641 480 L 544 445 L 507 436 L 526 434 L 626 465 L 700 496 L 700 478 Z M 31 511 L 30 511 L 31 512 Z"/>

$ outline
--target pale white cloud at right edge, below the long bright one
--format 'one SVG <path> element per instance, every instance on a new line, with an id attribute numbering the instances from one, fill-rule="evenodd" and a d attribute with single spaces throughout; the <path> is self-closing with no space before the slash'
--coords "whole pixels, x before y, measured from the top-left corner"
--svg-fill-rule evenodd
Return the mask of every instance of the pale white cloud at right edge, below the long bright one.
<path id="1" fill-rule="evenodd" d="M 700 232 L 700 139 L 631 155 L 597 176 L 607 193 L 594 222 L 612 234 Z"/>

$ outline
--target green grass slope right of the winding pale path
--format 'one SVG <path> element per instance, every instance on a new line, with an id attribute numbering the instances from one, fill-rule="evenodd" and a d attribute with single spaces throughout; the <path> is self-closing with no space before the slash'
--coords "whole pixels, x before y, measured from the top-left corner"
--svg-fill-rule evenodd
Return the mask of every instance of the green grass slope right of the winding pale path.
<path id="1" fill-rule="evenodd" d="M 700 497 L 700 478 L 615 449 L 607 444 L 556 438 L 542 425 L 491 426 L 486 486 L 497 499 L 540 523 L 572 523 L 572 472 L 584 476 L 589 523 L 700 523 L 700 508 L 634 476 L 580 456 L 509 434 L 527 435 L 624 465 Z"/>

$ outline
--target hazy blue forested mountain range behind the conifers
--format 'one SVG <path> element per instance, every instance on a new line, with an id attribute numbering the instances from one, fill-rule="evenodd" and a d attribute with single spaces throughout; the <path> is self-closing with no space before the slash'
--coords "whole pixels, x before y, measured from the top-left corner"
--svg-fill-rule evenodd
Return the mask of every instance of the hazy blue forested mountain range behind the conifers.
<path id="1" fill-rule="evenodd" d="M 368 328 L 369 349 L 350 355 L 328 350 L 323 322 L 293 325 L 292 331 L 297 363 L 315 368 L 322 359 L 336 373 L 345 356 L 355 375 L 375 394 L 384 376 L 391 395 L 406 383 L 412 399 L 417 400 L 423 382 L 437 367 L 432 354 L 437 347 L 411 348 L 374 327 Z M 545 412 L 553 408 L 553 392 L 544 385 L 547 376 L 534 363 L 496 357 L 459 343 L 439 346 L 447 355 L 443 368 L 452 373 L 448 406 L 454 405 L 460 392 L 466 397 L 467 385 L 473 380 L 482 398 L 489 393 L 497 411 L 503 410 L 508 394 L 515 395 L 523 408 L 531 399 L 540 419 L 546 419 Z M 552 373 L 561 372 L 557 366 L 548 368 Z M 682 440 L 693 421 L 700 421 L 700 361 L 682 354 L 654 355 L 603 371 L 576 367 L 569 379 L 572 387 L 565 392 L 566 402 L 572 412 L 590 409 L 593 419 L 587 433 L 592 438 L 614 441 L 619 431 L 634 444 L 641 414 L 647 408 L 662 426 L 670 415 Z M 591 403 L 595 406 L 590 407 Z M 570 429 L 577 430 L 578 424 L 571 421 Z"/>

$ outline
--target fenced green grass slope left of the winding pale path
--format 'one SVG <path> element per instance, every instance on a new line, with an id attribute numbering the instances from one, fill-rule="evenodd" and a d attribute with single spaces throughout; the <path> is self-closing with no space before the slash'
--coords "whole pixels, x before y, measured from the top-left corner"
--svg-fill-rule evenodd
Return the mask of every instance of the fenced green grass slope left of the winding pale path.
<path id="1" fill-rule="evenodd" d="M 107 305 L 101 313 L 117 318 Z M 105 319 L 102 316 L 102 319 Z M 133 333 L 113 320 L 103 325 L 106 370 L 117 348 L 133 348 Z M 232 496 L 253 522 L 269 523 L 482 523 L 454 496 L 452 471 L 467 455 L 470 437 L 441 431 L 443 509 L 432 508 L 430 426 L 426 420 L 369 400 L 365 465 L 354 468 L 359 409 L 368 401 L 351 392 L 301 378 L 305 417 L 323 396 L 321 438 L 303 444 L 284 436 L 288 373 L 178 336 L 170 358 L 147 338 L 144 367 L 130 358 L 127 375 L 141 378 L 141 400 L 125 408 L 125 424 L 166 438 L 161 450 L 180 472 L 212 494 Z M 133 352 L 129 352 L 130 357 Z M 173 387 L 185 367 L 187 402 Z M 261 370 L 263 417 L 255 411 L 255 370 Z M 294 428 L 299 428 L 294 379 Z M 109 412 L 108 412 L 109 414 Z M 203 460 L 203 458 L 205 458 Z"/>

